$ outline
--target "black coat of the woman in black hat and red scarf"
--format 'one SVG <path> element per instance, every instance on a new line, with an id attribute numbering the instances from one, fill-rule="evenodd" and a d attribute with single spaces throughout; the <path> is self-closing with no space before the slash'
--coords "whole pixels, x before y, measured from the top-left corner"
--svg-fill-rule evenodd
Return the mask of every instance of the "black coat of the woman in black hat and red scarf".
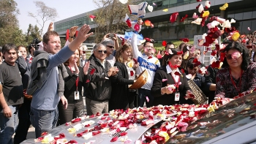
<path id="1" fill-rule="evenodd" d="M 174 105 L 174 104 L 193 104 L 191 99 L 185 99 L 184 96 L 187 90 L 190 90 L 187 83 L 187 77 L 185 73 L 182 73 L 180 77 L 181 85 L 178 86 L 178 92 L 180 93 L 180 100 L 176 102 L 174 100 L 175 93 L 173 94 L 161 94 L 161 88 L 167 86 L 167 84 L 175 84 L 172 75 L 167 74 L 166 67 L 160 67 L 154 75 L 153 86 L 151 88 L 151 95 L 154 96 L 153 105 Z M 162 82 L 162 79 L 167 81 Z"/>

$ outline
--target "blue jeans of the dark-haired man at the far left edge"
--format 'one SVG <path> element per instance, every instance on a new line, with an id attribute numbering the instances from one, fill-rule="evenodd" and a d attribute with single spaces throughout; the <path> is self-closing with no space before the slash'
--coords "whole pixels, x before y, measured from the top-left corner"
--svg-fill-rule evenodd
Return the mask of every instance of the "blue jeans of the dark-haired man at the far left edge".
<path id="1" fill-rule="evenodd" d="M 9 106 L 12 110 L 12 117 L 7 118 L 4 116 L 3 109 L 0 107 L 0 143 L 11 144 L 12 135 L 15 133 L 19 119 L 18 119 L 18 106 Z"/>

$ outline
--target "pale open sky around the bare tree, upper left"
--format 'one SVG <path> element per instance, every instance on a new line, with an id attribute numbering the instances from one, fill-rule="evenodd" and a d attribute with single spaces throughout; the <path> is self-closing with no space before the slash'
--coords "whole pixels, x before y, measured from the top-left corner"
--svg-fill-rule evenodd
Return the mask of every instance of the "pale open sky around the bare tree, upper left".
<path id="1" fill-rule="evenodd" d="M 15 0 L 15 1 L 18 4 L 17 8 L 20 10 L 20 15 L 18 15 L 19 26 L 20 26 L 20 29 L 22 29 L 23 33 L 25 33 L 29 28 L 29 23 L 31 23 L 33 26 L 37 24 L 36 19 L 30 17 L 28 12 L 33 12 L 34 14 L 37 14 L 38 9 L 34 4 L 35 0 Z M 48 20 L 45 23 L 43 33 L 47 31 L 50 22 L 63 20 L 75 15 L 82 14 L 84 12 L 89 12 L 91 10 L 97 9 L 97 6 L 94 4 L 93 0 L 75 0 L 75 1 L 41 0 L 41 1 L 43 1 L 47 7 L 55 8 L 56 11 L 58 12 L 58 17 L 55 18 L 54 21 Z M 39 27 L 39 29 L 41 28 L 39 24 L 37 24 L 37 26 Z"/>

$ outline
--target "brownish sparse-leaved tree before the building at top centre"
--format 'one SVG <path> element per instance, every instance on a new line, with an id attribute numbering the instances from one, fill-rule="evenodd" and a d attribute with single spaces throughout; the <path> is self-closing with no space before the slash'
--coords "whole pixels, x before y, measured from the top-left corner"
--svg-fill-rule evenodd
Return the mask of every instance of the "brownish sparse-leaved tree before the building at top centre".
<path id="1" fill-rule="evenodd" d="M 127 4 L 132 4 L 135 0 L 130 0 Z M 127 4 L 121 4 L 118 0 L 94 0 L 99 7 L 95 18 L 97 24 L 95 28 L 96 42 L 100 42 L 102 36 L 108 33 L 116 33 L 127 29 L 124 23 L 125 14 L 129 13 Z"/>

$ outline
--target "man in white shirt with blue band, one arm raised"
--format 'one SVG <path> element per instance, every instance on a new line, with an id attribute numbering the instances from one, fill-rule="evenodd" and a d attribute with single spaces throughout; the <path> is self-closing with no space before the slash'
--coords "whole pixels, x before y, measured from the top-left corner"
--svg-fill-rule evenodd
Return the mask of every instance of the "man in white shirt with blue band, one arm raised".
<path id="1" fill-rule="evenodd" d="M 160 67 L 159 60 L 152 55 L 154 51 L 153 40 L 146 40 L 143 44 L 144 53 L 140 53 L 137 46 L 137 34 L 132 35 L 132 53 L 133 58 L 136 58 L 140 66 L 136 69 L 136 74 L 140 74 L 143 70 L 148 72 L 148 79 L 144 86 L 138 89 L 140 102 L 139 106 L 143 107 L 144 102 L 146 102 L 147 107 L 153 106 L 154 97 L 151 96 L 151 87 L 153 85 L 154 74 L 157 72 L 157 69 Z"/>

